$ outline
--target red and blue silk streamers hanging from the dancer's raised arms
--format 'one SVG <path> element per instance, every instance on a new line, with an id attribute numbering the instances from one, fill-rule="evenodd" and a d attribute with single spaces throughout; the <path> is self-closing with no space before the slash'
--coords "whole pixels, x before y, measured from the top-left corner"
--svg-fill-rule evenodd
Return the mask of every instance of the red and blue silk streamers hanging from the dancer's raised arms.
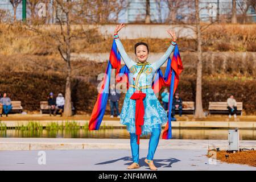
<path id="1" fill-rule="evenodd" d="M 123 66 L 121 69 L 121 55 L 117 51 L 117 45 L 115 44 L 115 40 L 113 40 L 112 49 L 110 52 L 108 67 L 106 68 L 106 74 L 101 84 L 101 92 L 98 94 L 96 104 L 94 105 L 92 115 L 89 121 L 89 130 L 98 130 L 100 129 L 100 125 L 102 122 L 102 118 L 104 117 L 106 104 L 108 101 L 108 92 L 109 92 L 109 84 L 110 84 L 110 74 L 111 69 L 117 69 L 116 77 L 118 82 L 126 82 L 127 88 L 129 88 L 129 69 L 127 66 Z M 152 89 L 155 93 L 158 93 L 162 86 L 170 86 L 170 94 L 169 94 L 169 104 L 168 104 L 168 122 L 163 132 L 163 139 L 171 139 L 171 110 L 172 110 L 172 100 L 174 93 L 177 89 L 177 85 L 179 83 L 179 75 L 183 70 L 182 61 L 180 58 L 179 49 L 177 44 L 174 49 L 174 55 L 172 59 L 170 57 L 167 61 L 166 72 L 163 73 L 159 68 L 156 71 L 156 76 L 154 81 L 152 82 Z M 119 75 L 118 75 L 119 73 Z"/>

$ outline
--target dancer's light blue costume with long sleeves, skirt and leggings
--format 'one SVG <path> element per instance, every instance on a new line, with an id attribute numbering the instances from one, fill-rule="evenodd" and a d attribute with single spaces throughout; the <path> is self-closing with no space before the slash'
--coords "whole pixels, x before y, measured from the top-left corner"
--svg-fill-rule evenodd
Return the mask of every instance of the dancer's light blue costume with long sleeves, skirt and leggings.
<path id="1" fill-rule="evenodd" d="M 125 95 L 122 111 L 120 114 L 120 123 L 126 125 L 127 131 L 130 133 L 131 153 L 133 162 L 139 162 L 139 144 L 137 143 L 137 135 L 135 135 L 135 100 L 131 96 L 136 90 L 146 93 L 143 99 L 144 104 L 144 124 L 142 125 L 142 135 L 151 133 L 147 159 L 154 158 L 156 147 L 159 143 L 161 128 L 168 121 L 166 111 L 156 98 L 154 90 L 151 88 L 152 79 L 155 72 L 168 60 L 176 43 L 172 42 L 164 55 L 155 63 L 135 63 L 125 52 L 121 40 L 115 37 L 115 43 L 121 57 L 129 68 L 129 89 Z"/>

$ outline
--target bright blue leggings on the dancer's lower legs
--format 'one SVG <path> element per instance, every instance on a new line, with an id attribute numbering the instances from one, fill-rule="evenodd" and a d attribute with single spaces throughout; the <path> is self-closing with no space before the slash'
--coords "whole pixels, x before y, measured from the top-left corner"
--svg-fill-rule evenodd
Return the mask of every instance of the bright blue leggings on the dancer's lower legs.
<path id="1" fill-rule="evenodd" d="M 150 142 L 148 144 L 148 154 L 147 159 L 153 160 L 156 147 L 158 147 L 159 138 L 161 134 L 161 129 L 152 129 Z M 135 133 L 130 133 L 131 136 L 131 155 L 133 156 L 133 162 L 139 163 L 139 145 L 137 144 L 137 135 Z"/>

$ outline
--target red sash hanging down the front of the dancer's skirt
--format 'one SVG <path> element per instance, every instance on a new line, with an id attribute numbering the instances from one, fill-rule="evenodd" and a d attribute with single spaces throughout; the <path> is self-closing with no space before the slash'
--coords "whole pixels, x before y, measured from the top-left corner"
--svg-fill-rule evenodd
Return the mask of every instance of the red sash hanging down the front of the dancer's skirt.
<path id="1" fill-rule="evenodd" d="M 141 127 L 144 125 L 144 104 L 143 99 L 146 97 L 146 93 L 141 92 L 141 90 L 135 90 L 130 99 L 136 101 L 135 105 L 135 127 L 136 127 L 136 135 L 137 135 L 137 144 L 139 144 L 139 137 L 141 136 L 142 129 Z"/>

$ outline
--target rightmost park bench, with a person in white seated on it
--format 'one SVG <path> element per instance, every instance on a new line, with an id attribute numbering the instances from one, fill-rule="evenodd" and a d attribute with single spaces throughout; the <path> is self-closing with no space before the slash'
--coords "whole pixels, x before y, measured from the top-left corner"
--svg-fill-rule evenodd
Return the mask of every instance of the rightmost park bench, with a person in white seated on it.
<path id="1" fill-rule="evenodd" d="M 228 105 L 226 102 L 209 102 L 209 114 L 228 114 Z M 237 114 L 242 115 L 243 102 L 237 102 Z"/>

